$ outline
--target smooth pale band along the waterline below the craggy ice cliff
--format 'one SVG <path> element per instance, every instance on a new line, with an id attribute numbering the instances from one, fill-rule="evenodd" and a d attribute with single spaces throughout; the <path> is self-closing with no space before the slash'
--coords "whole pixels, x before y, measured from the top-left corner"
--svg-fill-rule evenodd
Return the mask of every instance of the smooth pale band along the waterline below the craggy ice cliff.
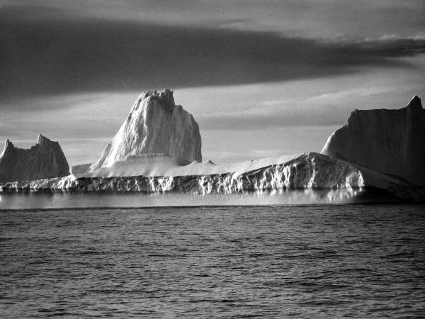
<path id="1" fill-rule="evenodd" d="M 237 194 L 98 193 L 24 191 L 0 193 L 0 208 L 88 208 L 152 206 L 319 205 L 393 202 L 389 194 L 371 189 L 296 189 Z"/>

